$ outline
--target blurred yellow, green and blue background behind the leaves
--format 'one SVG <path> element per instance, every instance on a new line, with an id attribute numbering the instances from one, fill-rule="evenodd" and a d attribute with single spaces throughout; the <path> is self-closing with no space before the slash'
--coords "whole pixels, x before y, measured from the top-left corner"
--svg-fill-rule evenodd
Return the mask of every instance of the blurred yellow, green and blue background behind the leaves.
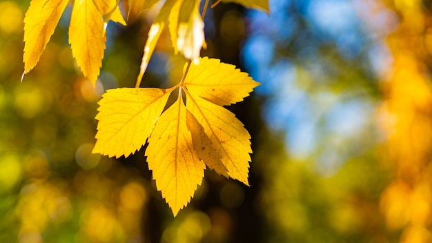
<path id="1" fill-rule="evenodd" d="M 135 86 L 155 10 L 110 23 L 93 88 L 71 6 L 22 83 L 29 0 L 0 0 L 0 242 L 432 242 L 432 2 L 219 3 L 208 48 L 261 86 L 228 107 L 252 136 L 251 186 L 207 170 L 173 217 L 144 148 L 91 154 L 97 101 Z M 142 87 L 177 84 L 162 35 Z"/>

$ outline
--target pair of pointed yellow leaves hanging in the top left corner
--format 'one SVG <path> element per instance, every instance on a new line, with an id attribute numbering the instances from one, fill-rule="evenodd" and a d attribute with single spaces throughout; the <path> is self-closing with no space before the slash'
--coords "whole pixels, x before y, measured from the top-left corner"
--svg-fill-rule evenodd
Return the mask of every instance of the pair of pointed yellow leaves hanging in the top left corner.
<path id="1" fill-rule="evenodd" d="M 35 68 L 68 0 L 32 0 L 24 19 L 24 73 Z M 94 85 L 104 58 L 108 21 L 126 25 L 117 0 L 75 0 L 69 43 L 77 64 Z"/>

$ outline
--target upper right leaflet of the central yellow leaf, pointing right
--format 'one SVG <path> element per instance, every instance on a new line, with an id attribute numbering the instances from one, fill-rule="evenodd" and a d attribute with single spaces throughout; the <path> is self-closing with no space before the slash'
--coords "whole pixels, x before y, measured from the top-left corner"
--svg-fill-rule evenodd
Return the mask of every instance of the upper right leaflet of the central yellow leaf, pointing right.
<path id="1" fill-rule="evenodd" d="M 259 85 L 246 72 L 208 57 L 199 59 L 199 65 L 191 64 L 184 84 L 190 93 L 219 106 L 242 101 Z"/>

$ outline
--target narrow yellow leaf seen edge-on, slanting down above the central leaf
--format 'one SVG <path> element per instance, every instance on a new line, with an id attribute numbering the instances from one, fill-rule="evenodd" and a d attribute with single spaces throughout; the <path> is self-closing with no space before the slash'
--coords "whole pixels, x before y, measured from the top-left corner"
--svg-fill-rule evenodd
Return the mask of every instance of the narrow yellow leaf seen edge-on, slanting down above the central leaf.
<path id="1" fill-rule="evenodd" d="M 148 31 L 146 46 L 144 46 L 144 55 L 141 59 L 141 66 L 139 67 L 137 84 L 140 83 L 144 75 L 144 72 L 146 72 L 148 61 L 150 61 L 150 57 L 153 55 L 153 51 L 155 50 L 156 43 L 159 40 L 162 30 L 164 30 L 166 19 L 168 18 L 168 14 L 170 14 L 170 11 L 173 8 L 176 1 L 178 0 L 166 0 L 164 6 L 162 6 L 161 10 L 155 17 L 152 26 L 150 26 L 150 30 Z"/>

